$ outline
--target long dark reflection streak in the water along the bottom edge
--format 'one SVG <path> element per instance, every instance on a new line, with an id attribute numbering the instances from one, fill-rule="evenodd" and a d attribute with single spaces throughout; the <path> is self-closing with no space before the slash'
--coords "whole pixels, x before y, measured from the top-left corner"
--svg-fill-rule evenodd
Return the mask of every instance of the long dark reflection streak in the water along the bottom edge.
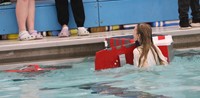
<path id="1" fill-rule="evenodd" d="M 115 81 L 118 82 L 118 81 Z M 105 83 L 88 83 L 83 85 L 68 86 L 61 88 L 41 88 L 40 90 L 57 90 L 62 88 L 79 88 L 85 90 L 92 90 L 91 94 L 103 94 L 103 95 L 115 95 L 123 98 L 171 98 L 164 95 L 155 95 L 143 91 L 128 91 L 128 88 L 112 87 L 109 84 L 113 82 Z"/>

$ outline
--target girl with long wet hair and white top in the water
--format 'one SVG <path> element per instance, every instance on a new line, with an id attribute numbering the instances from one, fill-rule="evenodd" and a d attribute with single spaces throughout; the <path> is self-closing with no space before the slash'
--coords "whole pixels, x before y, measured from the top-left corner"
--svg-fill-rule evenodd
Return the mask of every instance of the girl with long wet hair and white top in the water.
<path id="1" fill-rule="evenodd" d="M 161 50 L 153 44 L 152 29 L 148 24 L 138 24 L 133 32 L 136 48 L 133 50 L 134 65 L 149 67 L 153 65 L 167 65 L 167 58 Z"/>

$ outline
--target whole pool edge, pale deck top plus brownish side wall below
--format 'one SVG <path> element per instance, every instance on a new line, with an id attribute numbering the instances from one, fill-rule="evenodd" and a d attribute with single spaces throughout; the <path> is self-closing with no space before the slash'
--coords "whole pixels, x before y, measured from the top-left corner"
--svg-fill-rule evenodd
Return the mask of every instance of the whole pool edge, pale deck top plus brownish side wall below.
<path id="1" fill-rule="evenodd" d="M 129 29 L 91 33 L 89 36 L 45 37 L 33 41 L 2 40 L 0 65 L 94 56 L 96 51 L 104 48 L 105 38 L 130 36 L 132 32 L 133 29 Z M 194 49 L 200 46 L 200 28 L 179 30 L 178 26 L 155 27 L 153 34 L 172 35 L 174 49 Z"/>

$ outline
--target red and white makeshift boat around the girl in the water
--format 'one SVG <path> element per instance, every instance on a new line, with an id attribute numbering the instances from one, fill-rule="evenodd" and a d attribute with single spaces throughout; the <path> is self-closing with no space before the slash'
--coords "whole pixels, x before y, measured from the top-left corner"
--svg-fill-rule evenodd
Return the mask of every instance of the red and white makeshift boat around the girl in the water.
<path id="1" fill-rule="evenodd" d="M 153 42 L 170 62 L 173 58 L 172 36 L 154 36 Z M 96 52 L 95 70 L 116 68 L 124 64 L 133 65 L 133 50 L 136 46 L 132 38 L 106 38 L 105 44 L 109 48 Z"/>

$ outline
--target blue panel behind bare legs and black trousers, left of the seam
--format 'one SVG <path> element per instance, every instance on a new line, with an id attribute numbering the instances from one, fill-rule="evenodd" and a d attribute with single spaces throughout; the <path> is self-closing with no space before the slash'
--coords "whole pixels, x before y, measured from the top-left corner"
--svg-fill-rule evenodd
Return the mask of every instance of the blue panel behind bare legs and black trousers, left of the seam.
<path id="1" fill-rule="evenodd" d="M 86 21 L 85 27 L 99 26 L 98 3 L 89 2 L 95 0 L 84 0 Z M 61 26 L 57 21 L 57 14 L 54 0 L 36 2 L 35 29 L 38 31 L 60 30 Z M 69 27 L 75 28 L 75 22 L 70 7 Z M 18 33 L 18 26 L 15 15 L 15 4 L 0 6 L 0 35 Z"/>

